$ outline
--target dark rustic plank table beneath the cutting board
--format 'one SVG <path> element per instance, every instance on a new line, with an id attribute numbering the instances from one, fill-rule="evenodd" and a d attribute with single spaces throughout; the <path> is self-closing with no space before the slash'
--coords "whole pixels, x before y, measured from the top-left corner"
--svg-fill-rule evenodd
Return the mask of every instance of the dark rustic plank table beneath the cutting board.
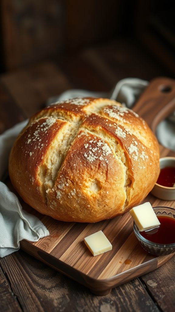
<path id="1" fill-rule="evenodd" d="M 69 88 L 109 91 L 125 77 L 150 80 L 168 73 L 132 42 L 108 43 L 59 61 L 1 76 L 0 132 Z M 175 257 L 151 273 L 97 297 L 24 251 L 0 259 L 0 311 L 174 311 Z"/>

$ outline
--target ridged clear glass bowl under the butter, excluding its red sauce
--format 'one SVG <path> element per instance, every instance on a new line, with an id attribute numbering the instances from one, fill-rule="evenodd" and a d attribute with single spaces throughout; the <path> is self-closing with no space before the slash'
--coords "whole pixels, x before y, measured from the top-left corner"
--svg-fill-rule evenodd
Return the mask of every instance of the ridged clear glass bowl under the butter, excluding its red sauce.
<path id="1" fill-rule="evenodd" d="M 154 212 L 158 216 L 167 216 L 172 217 L 175 219 L 175 209 L 170 207 L 154 207 Z M 158 244 L 154 243 L 152 241 L 149 241 L 148 239 L 144 238 L 139 230 L 138 227 L 135 225 L 135 222 L 133 224 L 134 226 L 134 233 L 137 239 L 140 242 L 140 245 L 149 253 L 155 256 L 164 256 L 169 255 L 175 251 L 175 242 L 172 244 Z M 175 240 L 175 239 L 174 239 Z"/>

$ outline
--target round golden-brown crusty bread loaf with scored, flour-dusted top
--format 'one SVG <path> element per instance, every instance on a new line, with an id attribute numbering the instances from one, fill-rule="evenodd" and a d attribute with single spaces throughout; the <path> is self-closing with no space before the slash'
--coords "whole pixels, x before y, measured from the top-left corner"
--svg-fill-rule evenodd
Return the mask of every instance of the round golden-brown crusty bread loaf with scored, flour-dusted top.
<path id="1" fill-rule="evenodd" d="M 75 98 L 34 115 L 9 160 L 31 207 L 62 221 L 97 222 L 139 204 L 159 175 L 157 139 L 114 100 Z"/>

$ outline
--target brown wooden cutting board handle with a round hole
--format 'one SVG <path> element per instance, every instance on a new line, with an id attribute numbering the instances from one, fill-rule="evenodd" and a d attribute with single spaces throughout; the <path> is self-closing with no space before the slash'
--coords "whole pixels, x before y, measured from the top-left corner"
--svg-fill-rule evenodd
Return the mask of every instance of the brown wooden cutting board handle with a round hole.
<path id="1" fill-rule="evenodd" d="M 175 80 L 166 77 L 153 79 L 133 110 L 146 120 L 155 133 L 157 125 L 175 110 Z"/>

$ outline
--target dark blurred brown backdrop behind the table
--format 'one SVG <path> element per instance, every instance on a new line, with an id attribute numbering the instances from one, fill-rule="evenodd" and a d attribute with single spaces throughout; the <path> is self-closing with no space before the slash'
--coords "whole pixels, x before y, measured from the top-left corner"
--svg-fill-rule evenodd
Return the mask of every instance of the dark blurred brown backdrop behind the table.
<path id="1" fill-rule="evenodd" d="M 46 60 L 66 71 L 65 56 L 71 63 L 80 51 L 100 66 L 89 49 L 95 47 L 121 72 L 120 78 L 151 78 L 149 59 L 160 66 L 158 75 L 174 77 L 174 2 L 0 0 L 0 72 Z M 141 75 L 143 70 L 148 74 Z"/>

